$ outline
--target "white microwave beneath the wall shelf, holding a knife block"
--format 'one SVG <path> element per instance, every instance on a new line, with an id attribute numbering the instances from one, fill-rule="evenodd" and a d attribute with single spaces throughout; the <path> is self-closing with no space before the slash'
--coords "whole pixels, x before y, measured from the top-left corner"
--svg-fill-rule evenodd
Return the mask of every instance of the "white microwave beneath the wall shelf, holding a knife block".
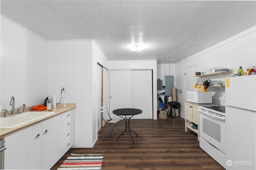
<path id="1" fill-rule="evenodd" d="M 198 104 L 212 103 L 212 92 L 187 92 L 187 101 Z"/>

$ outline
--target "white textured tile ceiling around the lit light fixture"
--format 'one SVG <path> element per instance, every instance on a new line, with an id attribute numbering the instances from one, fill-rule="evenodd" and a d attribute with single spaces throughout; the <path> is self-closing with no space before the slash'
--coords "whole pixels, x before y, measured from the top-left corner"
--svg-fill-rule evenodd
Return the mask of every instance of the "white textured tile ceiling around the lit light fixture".
<path id="1" fill-rule="evenodd" d="M 1 14 L 45 39 L 94 39 L 110 60 L 175 63 L 255 26 L 256 1 L 1 0 Z"/>

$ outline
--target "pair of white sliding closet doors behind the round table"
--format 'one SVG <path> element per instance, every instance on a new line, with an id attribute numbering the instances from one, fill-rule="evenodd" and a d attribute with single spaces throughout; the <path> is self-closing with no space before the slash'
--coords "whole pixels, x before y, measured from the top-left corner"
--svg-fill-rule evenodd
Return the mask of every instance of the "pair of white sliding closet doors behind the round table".
<path id="1" fill-rule="evenodd" d="M 142 113 L 134 119 L 152 119 L 152 70 L 111 70 L 110 114 L 114 109 L 136 108 Z"/>

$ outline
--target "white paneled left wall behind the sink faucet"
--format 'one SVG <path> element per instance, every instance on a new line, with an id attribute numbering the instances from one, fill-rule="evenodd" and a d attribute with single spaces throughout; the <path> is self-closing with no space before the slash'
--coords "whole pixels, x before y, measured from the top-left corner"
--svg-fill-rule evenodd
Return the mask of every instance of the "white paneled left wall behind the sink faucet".
<path id="1" fill-rule="evenodd" d="M 43 104 L 46 97 L 46 41 L 1 16 L 0 110 Z"/>

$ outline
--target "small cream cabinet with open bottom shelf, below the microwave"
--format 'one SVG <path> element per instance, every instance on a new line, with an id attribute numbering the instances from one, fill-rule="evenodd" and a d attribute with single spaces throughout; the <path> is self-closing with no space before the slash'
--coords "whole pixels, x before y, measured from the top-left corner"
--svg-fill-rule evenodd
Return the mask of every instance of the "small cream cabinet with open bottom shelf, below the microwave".
<path id="1" fill-rule="evenodd" d="M 198 105 L 185 102 L 185 131 L 188 129 L 197 133 L 197 140 L 199 141 L 199 111 Z M 197 129 L 193 129 L 188 122 L 192 122 L 197 125 Z"/>

